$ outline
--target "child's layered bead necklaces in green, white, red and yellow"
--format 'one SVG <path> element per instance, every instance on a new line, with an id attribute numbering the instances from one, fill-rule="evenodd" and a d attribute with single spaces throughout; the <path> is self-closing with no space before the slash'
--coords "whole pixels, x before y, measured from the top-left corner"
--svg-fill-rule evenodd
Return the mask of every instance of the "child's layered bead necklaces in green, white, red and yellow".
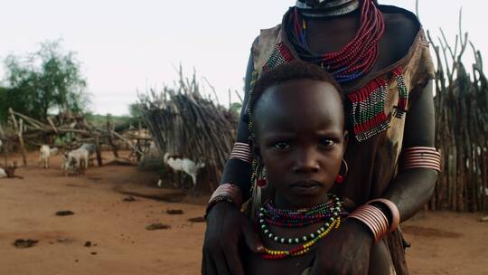
<path id="1" fill-rule="evenodd" d="M 310 251 L 316 242 L 324 238 L 331 230 L 338 228 L 341 217 L 345 216 L 343 202 L 339 197 L 333 198 L 325 204 L 318 204 L 313 208 L 299 210 L 277 209 L 271 200 L 259 208 L 259 229 L 267 238 L 283 244 L 299 244 L 295 248 L 285 251 L 265 248 L 262 257 L 267 260 L 279 260 L 288 257 L 300 256 Z M 324 222 L 322 226 L 305 234 L 300 238 L 286 238 L 271 232 L 269 225 L 281 228 L 302 228 L 314 223 Z M 301 244 L 300 244 L 301 243 Z"/>

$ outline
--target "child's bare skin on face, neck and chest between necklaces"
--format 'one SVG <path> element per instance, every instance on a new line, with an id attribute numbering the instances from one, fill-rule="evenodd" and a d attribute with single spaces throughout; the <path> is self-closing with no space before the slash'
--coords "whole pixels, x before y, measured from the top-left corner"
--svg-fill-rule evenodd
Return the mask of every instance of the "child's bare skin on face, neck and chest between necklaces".
<path id="1" fill-rule="evenodd" d="M 253 152 L 267 168 L 267 185 L 275 190 L 275 205 L 297 209 L 326 202 L 348 140 L 339 91 L 322 81 L 286 81 L 263 93 L 253 117 L 260 118 L 253 120 L 257 135 L 252 140 Z M 278 235 L 296 238 L 314 232 L 317 225 L 299 229 L 271 227 Z M 319 243 L 327 245 L 330 238 Z M 271 242 L 266 236 L 261 236 L 261 240 L 271 249 L 290 248 Z M 381 245 L 371 251 L 371 274 L 387 274 L 392 267 Z M 303 256 L 280 261 L 263 260 L 249 251 L 242 254 L 246 274 L 300 274 L 315 257 L 314 247 Z"/>

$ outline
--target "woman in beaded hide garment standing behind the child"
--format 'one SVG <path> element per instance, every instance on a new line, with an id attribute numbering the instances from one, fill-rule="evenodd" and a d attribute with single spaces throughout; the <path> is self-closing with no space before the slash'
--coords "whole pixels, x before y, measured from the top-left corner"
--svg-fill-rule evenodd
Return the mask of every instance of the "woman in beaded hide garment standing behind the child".
<path id="1" fill-rule="evenodd" d="M 324 67 L 344 90 L 352 134 L 345 154 L 350 172 L 333 193 L 348 198 L 357 211 L 381 198 L 396 205 L 400 222 L 407 221 L 427 203 L 440 169 L 434 149 L 433 64 L 416 16 L 371 0 L 300 0 L 282 24 L 261 31 L 253 43 L 246 91 L 252 91 L 262 71 L 293 60 Z M 204 274 L 243 274 L 238 244 L 263 249 L 236 207 L 250 196 L 248 128 L 244 107 L 222 188 L 208 208 Z M 256 197 L 259 188 L 253 190 Z M 393 223 L 396 214 L 389 205 L 375 207 Z M 317 249 L 312 274 L 366 274 L 375 242 L 383 244 L 381 252 L 395 266 L 390 273 L 408 274 L 398 230 L 379 236 L 368 221 L 349 221 Z"/>

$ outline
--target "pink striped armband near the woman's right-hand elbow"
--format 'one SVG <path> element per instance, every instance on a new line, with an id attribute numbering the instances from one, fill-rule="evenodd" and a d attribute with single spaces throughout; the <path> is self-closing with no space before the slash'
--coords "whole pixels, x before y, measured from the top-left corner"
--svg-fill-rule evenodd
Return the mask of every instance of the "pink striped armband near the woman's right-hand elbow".
<path id="1" fill-rule="evenodd" d="M 434 169 L 441 171 L 441 155 L 434 147 L 408 147 L 402 150 L 399 169 L 414 168 Z"/>

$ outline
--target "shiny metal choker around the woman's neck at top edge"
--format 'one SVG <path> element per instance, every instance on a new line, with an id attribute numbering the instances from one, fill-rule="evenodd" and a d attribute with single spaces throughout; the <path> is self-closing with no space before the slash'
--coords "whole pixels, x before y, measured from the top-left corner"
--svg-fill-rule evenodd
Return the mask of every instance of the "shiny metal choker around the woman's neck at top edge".
<path id="1" fill-rule="evenodd" d="M 308 5 L 298 2 L 296 7 L 300 9 L 300 13 L 304 17 L 323 18 L 350 14 L 361 6 L 359 0 L 337 1 L 335 4 L 340 5 L 332 4 L 324 5 L 324 7 L 310 8 L 307 7 Z"/>

